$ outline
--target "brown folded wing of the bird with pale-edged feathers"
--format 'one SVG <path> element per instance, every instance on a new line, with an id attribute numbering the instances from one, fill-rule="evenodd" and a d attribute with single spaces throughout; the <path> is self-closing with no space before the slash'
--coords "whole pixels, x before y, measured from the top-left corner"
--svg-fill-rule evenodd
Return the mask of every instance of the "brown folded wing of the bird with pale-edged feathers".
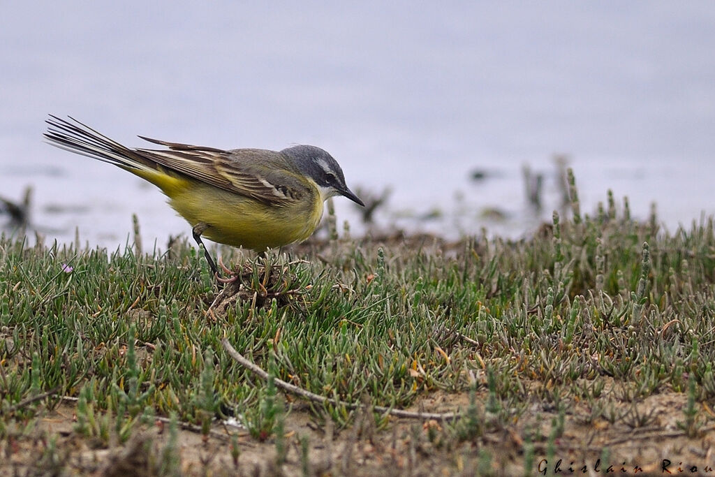
<path id="1" fill-rule="evenodd" d="M 267 205 L 290 205 L 305 196 L 305 181 L 276 151 L 192 146 L 142 137 L 169 150 L 136 149 L 167 169 Z"/>

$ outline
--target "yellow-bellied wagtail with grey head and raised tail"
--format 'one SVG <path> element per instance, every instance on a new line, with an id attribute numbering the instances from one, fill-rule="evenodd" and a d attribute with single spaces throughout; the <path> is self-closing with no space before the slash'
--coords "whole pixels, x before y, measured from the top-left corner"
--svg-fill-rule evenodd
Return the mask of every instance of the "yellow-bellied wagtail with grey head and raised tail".
<path id="1" fill-rule="evenodd" d="M 345 185 L 340 165 L 320 147 L 224 150 L 139 136 L 169 149 L 129 149 L 69 119 L 50 115 L 44 134 L 50 144 L 109 162 L 159 187 L 192 225 L 199 245 L 203 235 L 262 252 L 310 237 L 328 197 L 342 195 L 364 206 Z M 216 273 L 205 246 L 204 253 Z"/>

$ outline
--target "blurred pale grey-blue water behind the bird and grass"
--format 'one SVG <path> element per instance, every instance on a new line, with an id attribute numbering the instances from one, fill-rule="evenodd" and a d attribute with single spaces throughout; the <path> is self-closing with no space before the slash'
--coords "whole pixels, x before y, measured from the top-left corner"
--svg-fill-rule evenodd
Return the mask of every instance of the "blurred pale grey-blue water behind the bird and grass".
<path id="1" fill-rule="evenodd" d="M 134 212 L 145 247 L 189 229 L 137 177 L 44 144 L 48 113 L 137 147 L 315 144 L 353 190 L 390 187 L 383 229 L 528 235 L 560 207 L 555 154 L 584 212 L 609 188 L 671 231 L 715 212 L 711 1 L 0 4 L 0 196 L 33 187 L 50 240 L 116 248 Z"/>

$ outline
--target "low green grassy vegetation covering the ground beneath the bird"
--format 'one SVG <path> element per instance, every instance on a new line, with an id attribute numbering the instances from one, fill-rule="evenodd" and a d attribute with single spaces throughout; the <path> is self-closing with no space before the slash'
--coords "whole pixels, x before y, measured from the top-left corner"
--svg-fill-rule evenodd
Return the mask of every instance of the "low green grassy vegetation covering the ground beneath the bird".
<path id="1" fill-rule="evenodd" d="M 523 240 L 314 241 L 221 288 L 185 241 L 3 237 L 0 471 L 715 467 L 713 221 L 612 197 Z"/>

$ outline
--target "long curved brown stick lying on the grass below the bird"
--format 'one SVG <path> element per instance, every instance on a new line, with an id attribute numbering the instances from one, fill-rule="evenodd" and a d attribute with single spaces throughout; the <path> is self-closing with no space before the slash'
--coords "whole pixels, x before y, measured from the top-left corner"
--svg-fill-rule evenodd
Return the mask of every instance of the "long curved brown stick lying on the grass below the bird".
<path id="1" fill-rule="evenodd" d="M 229 343 L 227 338 L 224 338 L 221 340 L 221 344 L 223 345 L 224 349 L 227 351 L 227 353 L 235 360 L 237 363 L 242 365 L 244 368 L 248 368 L 253 374 L 257 375 L 259 378 L 262 378 L 264 380 L 268 380 L 270 377 L 268 373 L 265 372 L 262 368 L 259 366 L 255 365 L 251 361 L 247 360 L 244 358 L 240 353 L 238 353 L 231 343 Z M 316 403 L 330 403 L 332 405 L 344 405 L 348 409 L 357 409 L 360 408 L 362 405 L 358 403 L 346 403 L 345 401 L 342 400 L 337 400 L 337 399 L 331 399 L 331 398 L 326 398 L 325 396 L 311 393 L 310 391 L 307 391 L 302 388 L 298 388 L 296 385 L 292 385 L 290 383 L 286 383 L 284 380 L 280 380 L 278 378 L 274 378 L 273 382 L 278 388 L 281 388 L 284 391 L 287 391 L 288 393 L 292 393 L 295 395 L 299 395 L 302 398 L 305 398 L 307 400 L 312 400 Z M 460 414 L 458 413 L 415 413 L 409 410 L 402 410 L 402 409 L 393 409 L 393 408 L 385 408 L 380 405 L 375 405 L 373 406 L 373 410 L 377 411 L 378 413 L 388 413 L 390 415 L 394 415 L 395 417 L 398 418 L 408 418 L 408 419 L 423 419 L 423 420 L 430 420 L 434 419 L 435 421 L 452 421 L 453 419 L 460 418 Z"/>

